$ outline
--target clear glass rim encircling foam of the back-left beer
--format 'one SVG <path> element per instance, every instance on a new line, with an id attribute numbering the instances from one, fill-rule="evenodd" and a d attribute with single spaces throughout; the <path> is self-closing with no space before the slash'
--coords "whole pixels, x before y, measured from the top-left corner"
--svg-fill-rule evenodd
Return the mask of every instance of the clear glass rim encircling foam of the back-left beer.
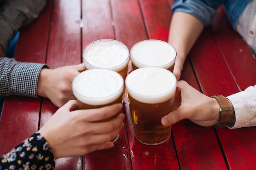
<path id="1" fill-rule="evenodd" d="M 116 66 L 114 66 L 114 67 L 108 67 L 108 68 L 104 68 L 104 69 L 114 70 L 114 71 L 116 71 L 116 72 L 119 72 L 119 71 L 123 70 L 123 69 L 126 67 L 126 65 L 128 64 L 128 62 L 129 62 L 130 51 L 129 51 L 128 47 L 127 47 L 124 43 L 122 43 L 122 42 L 120 42 L 120 41 L 117 41 L 117 40 L 115 40 L 115 39 L 99 39 L 99 40 L 93 41 L 93 42 L 91 42 L 90 44 L 88 44 L 88 45 L 83 49 L 83 53 L 82 53 L 83 61 L 86 62 L 88 65 L 92 66 L 92 68 L 101 68 L 101 67 L 97 67 L 97 66 L 92 65 L 91 63 L 89 63 L 89 62 L 85 59 L 84 53 L 85 53 L 86 49 L 88 49 L 88 47 L 92 46 L 93 44 L 97 44 L 97 43 L 105 42 L 105 41 L 114 41 L 114 42 L 117 42 L 118 44 L 121 44 L 121 46 L 123 46 L 123 47 L 126 49 L 126 51 L 128 52 L 128 55 L 127 55 L 126 60 L 124 60 L 123 63 L 121 63 L 121 64 L 119 64 L 119 65 L 116 65 Z M 121 65 L 125 65 L 125 66 L 122 67 L 121 69 L 117 69 L 117 68 L 119 68 Z"/>

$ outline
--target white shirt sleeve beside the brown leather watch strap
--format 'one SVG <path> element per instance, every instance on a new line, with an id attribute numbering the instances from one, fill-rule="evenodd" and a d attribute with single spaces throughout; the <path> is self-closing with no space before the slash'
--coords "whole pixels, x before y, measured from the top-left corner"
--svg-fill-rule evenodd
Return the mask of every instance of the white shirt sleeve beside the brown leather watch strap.
<path id="1" fill-rule="evenodd" d="M 230 129 L 256 126 L 256 85 L 227 98 L 232 102 L 236 114 L 236 123 Z"/>

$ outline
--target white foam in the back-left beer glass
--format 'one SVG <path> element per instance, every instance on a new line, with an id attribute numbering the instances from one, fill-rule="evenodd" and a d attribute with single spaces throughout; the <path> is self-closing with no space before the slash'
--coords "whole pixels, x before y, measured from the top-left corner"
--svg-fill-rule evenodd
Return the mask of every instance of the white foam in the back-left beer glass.
<path id="1" fill-rule="evenodd" d="M 119 41 L 101 39 L 85 47 L 83 59 L 88 69 L 107 68 L 119 72 L 129 62 L 129 50 Z"/>

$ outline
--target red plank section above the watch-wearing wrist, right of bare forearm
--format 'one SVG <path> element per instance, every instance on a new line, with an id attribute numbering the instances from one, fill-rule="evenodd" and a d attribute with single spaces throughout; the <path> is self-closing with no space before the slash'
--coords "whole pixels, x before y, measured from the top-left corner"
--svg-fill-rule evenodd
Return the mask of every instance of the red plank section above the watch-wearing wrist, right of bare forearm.
<path id="1" fill-rule="evenodd" d="M 229 69 L 211 36 L 205 28 L 189 52 L 198 82 L 207 96 L 233 94 L 237 90 Z M 223 87 L 229 87 L 223 90 Z"/>

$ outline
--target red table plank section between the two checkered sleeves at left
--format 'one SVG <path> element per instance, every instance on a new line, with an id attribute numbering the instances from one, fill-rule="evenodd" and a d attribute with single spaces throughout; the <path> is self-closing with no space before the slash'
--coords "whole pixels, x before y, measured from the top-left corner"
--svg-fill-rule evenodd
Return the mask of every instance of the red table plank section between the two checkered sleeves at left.
<path id="1" fill-rule="evenodd" d="M 14 58 L 21 62 L 45 63 L 52 0 L 39 17 L 31 24 L 20 29 Z"/>

